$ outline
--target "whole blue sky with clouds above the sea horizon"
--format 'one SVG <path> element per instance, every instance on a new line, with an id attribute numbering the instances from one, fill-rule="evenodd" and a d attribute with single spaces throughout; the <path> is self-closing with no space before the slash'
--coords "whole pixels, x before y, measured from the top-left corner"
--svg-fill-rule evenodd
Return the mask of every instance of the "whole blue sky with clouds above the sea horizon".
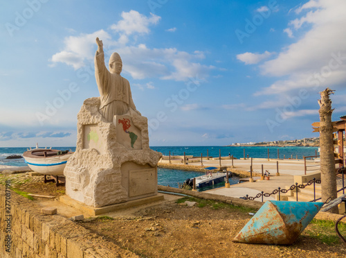
<path id="1" fill-rule="evenodd" d="M 75 146 L 100 96 L 95 37 L 120 53 L 151 146 L 315 137 L 346 113 L 346 1 L 1 1 L 0 147 Z"/>

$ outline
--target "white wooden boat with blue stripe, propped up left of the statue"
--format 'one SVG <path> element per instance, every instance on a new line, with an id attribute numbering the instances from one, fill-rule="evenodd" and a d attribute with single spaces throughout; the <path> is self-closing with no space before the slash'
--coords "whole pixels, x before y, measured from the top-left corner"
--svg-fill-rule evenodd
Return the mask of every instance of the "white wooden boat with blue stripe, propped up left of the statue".
<path id="1" fill-rule="evenodd" d="M 64 169 L 73 152 L 69 150 L 53 150 L 51 148 L 30 149 L 23 153 L 26 164 L 42 175 L 64 175 Z"/>

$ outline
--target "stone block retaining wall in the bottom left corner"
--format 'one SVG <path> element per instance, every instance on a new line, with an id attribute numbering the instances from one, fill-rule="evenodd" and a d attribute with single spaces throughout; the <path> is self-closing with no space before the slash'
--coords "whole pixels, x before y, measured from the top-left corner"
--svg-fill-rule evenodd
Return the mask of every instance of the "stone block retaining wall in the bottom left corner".
<path id="1" fill-rule="evenodd" d="M 138 257 L 63 216 L 40 214 L 41 208 L 0 187 L 0 257 Z"/>

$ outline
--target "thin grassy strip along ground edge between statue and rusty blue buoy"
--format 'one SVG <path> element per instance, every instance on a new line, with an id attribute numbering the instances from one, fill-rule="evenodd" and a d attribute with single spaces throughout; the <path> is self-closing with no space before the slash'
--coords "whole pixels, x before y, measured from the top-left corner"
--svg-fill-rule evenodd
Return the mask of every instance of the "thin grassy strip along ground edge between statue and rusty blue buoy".
<path id="1" fill-rule="evenodd" d="M 238 207 L 235 205 L 229 205 L 227 203 L 217 202 L 215 200 L 199 199 L 199 198 L 194 198 L 189 196 L 185 196 L 184 198 L 176 200 L 176 203 L 185 203 L 185 201 L 187 200 L 190 202 L 196 202 L 197 203 L 196 206 L 199 208 L 210 207 L 211 209 L 229 209 L 230 211 L 236 210 L 238 212 L 244 212 L 244 213 L 256 212 L 255 209 L 248 208 L 248 207 Z"/>

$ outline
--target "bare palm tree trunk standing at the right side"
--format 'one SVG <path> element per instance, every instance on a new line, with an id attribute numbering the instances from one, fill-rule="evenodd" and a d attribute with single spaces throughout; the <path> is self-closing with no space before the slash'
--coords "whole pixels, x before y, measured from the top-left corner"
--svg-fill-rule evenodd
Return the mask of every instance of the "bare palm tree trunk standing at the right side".
<path id="1" fill-rule="evenodd" d="M 325 203 L 328 198 L 334 200 L 337 198 L 336 192 L 336 172 L 333 146 L 333 126 L 331 125 L 331 100 L 330 94 L 334 91 L 327 88 L 320 92 L 320 171 L 322 202 Z M 338 207 L 331 209 L 332 213 L 338 213 Z"/>

